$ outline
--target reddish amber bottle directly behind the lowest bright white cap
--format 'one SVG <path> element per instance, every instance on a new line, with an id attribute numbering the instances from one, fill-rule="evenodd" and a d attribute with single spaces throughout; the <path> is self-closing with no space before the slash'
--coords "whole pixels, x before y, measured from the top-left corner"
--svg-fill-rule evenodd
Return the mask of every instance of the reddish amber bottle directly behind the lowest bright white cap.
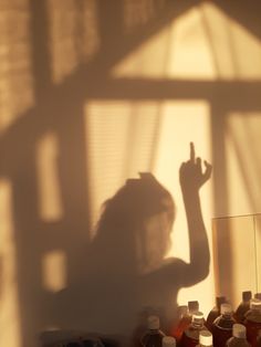
<path id="1" fill-rule="evenodd" d="M 201 330 L 207 330 L 205 326 L 203 314 L 201 312 L 197 312 L 192 314 L 192 322 L 182 334 L 181 346 L 197 346 L 199 344 L 199 334 Z"/>

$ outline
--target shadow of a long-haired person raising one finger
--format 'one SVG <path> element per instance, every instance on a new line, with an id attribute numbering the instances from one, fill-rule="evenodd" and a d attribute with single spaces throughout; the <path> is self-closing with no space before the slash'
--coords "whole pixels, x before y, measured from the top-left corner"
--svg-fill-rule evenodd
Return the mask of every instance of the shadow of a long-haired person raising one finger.
<path id="1" fill-rule="evenodd" d="M 175 218 L 170 193 L 150 174 L 127 180 L 103 207 L 83 281 L 60 295 L 63 327 L 117 336 L 125 346 L 140 317 L 157 314 L 163 327 L 168 327 L 175 317 L 178 291 L 203 280 L 209 272 L 199 200 L 199 189 L 211 175 L 207 161 L 205 167 L 202 171 L 190 144 L 190 159 L 179 171 L 190 262 L 165 260 Z"/>

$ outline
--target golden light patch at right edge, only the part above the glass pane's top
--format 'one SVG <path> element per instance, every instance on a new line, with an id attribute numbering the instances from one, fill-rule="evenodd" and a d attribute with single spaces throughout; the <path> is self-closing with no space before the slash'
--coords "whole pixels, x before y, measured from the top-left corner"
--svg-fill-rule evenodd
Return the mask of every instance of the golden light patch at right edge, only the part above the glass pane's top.
<path id="1" fill-rule="evenodd" d="M 261 112 L 236 113 L 227 116 L 226 162 L 229 187 L 228 214 L 259 213 Z"/>

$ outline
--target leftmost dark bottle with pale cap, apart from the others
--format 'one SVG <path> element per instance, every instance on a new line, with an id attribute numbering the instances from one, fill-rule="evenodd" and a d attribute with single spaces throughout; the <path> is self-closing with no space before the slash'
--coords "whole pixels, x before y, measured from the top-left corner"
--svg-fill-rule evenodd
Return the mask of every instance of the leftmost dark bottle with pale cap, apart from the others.
<path id="1" fill-rule="evenodd" d="M 158 316 L 149 316 L 147 320 L 147 330 L 140 338 L 142 347 L 161 347 L 165 334 L 159 328 Z"/>

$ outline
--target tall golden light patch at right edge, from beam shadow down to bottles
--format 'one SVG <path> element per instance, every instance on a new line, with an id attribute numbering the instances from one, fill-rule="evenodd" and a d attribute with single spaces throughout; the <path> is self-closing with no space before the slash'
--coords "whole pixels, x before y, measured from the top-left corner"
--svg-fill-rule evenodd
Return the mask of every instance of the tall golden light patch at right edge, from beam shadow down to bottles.
<path id="1" fill-rule="evenodd" d="M 261 113 L 230 112 L 226 117 L 223 160 L 227 207 L 218 201 L 213 220 L 216 287 L 237 305 L 243 291 L 260 291 Z M 229 218 L 231 217 L 231 218 Z M 226 249 L 223 244 L 227 244 Z M 248 260 L 248 261 L 246 261 Z"/>

